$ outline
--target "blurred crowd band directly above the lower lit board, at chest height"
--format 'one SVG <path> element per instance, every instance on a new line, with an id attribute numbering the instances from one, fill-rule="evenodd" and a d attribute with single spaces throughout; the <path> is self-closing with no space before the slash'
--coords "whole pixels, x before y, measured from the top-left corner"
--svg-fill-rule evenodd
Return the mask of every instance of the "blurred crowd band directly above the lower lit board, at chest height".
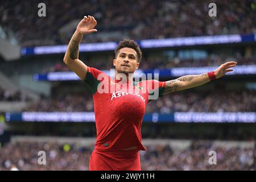
<path id="1" fill-rule="evenodd" d="M 90 93 L 57 94 L 42 98 L 26 111 L 93 111 L 93 99 Z M 183 90 L 151 101 L 146 107 L 147 113 L 170 114 L 176 111 L 256 111 L 256 93 L 253 90 L 223 92 L 217 88 L 214 92 Z"/>

